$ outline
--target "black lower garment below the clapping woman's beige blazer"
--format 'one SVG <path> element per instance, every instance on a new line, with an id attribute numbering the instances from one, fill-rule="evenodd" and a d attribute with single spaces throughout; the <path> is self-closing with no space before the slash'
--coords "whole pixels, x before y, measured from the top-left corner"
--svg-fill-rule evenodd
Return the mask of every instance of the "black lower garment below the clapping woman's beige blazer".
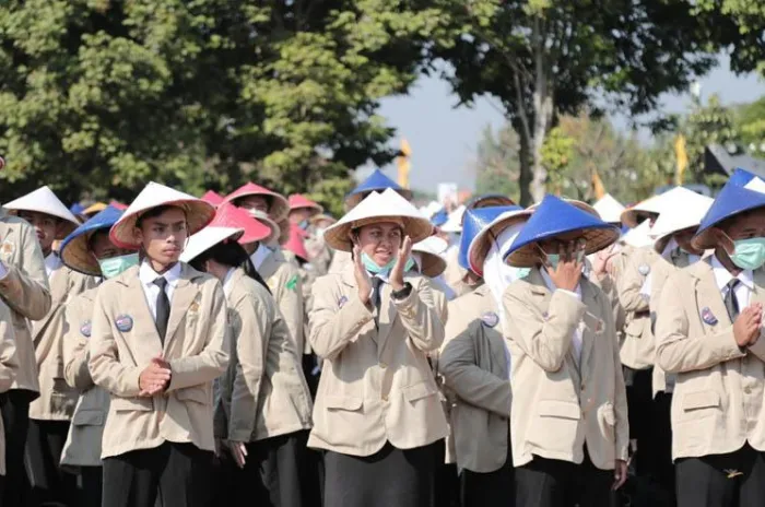
<path id="1" fill-rule="evenodd" d="M 325 455 L 325 507 L 432 507 L 437 444 L 397 449 L 387 443 L 372 456 Z"/>

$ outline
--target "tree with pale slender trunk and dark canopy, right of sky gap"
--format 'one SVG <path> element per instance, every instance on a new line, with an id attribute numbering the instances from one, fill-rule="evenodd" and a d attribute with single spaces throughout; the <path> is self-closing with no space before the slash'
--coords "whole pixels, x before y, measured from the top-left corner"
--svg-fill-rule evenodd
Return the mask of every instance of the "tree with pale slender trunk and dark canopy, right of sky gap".
<path id="1" fill-rule="evenodd" d="M 715 63 L 734 23 L 682 0 L 437 0 L 454 38 L 433 58 L 463 102 L 498 99 L 519 135 L 520 199 L 541 199 L 544 139 L 555 118 L 608 104 L 637 116 Z M 682 36 L 679 36 L 682 34 Z M 710 43 L 710 42 L 714 42 Z"/>

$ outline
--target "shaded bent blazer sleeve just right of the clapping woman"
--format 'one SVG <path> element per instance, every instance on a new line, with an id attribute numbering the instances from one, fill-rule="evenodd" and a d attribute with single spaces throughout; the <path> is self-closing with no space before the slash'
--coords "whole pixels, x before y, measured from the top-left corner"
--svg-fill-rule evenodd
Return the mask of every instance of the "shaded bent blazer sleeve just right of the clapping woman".
<path id="1" fill-rule="evenodd" d="M 475 357 L 475 325 L 471 323 L 444 347 L 438 363 L 448 388 L 464 402 L 510 416 L 510 381 L 481 369 Z"/>

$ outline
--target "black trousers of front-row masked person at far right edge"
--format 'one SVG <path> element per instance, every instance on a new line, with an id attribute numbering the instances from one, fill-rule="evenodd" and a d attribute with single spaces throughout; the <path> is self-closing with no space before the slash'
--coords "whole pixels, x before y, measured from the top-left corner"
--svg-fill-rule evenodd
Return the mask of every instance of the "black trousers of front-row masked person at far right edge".
<path id="1" fill-rule="evenodd" d="M 749 444 L 735 452 L 679 459 L 679 507 L 765 505 L 765 453 Z"/>

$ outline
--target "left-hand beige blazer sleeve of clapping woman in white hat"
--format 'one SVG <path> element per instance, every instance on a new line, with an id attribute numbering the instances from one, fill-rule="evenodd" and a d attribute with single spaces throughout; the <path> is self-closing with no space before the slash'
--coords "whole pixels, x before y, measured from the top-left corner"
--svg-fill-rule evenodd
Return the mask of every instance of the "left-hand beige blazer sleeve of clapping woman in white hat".
<path id="1" fill-rule="evenodd" d="M 320 278 L 314 284 L 314 307 L 310 313 L 310 346 L 319 357 L 333 359 L 358 338 L 361 329 L 374 319 L 372 309 L 362 303 L 356 290 L 338 309 L 333 287 L 336 276 Z"/>

